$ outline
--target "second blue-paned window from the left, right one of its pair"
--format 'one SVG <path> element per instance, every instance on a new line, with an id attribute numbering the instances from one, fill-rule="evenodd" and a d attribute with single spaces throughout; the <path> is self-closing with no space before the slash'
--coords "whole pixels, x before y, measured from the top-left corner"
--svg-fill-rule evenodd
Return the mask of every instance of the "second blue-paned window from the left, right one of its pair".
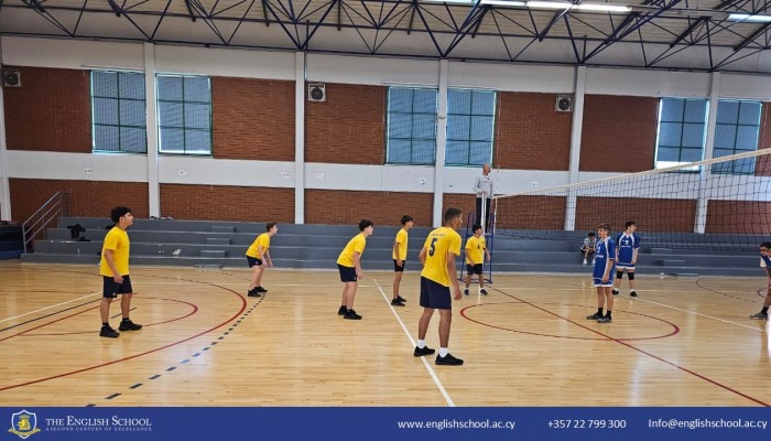
<path id="1" fill-rule="evenodd" d="M 208 77 L 158 75 L 160 152 L 211 154 Z"/>

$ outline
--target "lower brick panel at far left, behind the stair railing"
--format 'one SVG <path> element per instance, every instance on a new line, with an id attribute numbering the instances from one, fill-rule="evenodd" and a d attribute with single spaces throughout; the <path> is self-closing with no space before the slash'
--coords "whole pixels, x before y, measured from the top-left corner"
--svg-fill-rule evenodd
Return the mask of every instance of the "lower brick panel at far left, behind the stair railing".
<path id="1" fill-rule="evenodd" d="M 22 78 L 23 80 L 23 78 Z M 15 220 L 23 222 L 58 191 L 70 193 L 70 215 L 109 217 L 110 209 L 126 205 L 137 217 L 148 217 L 148 184 L 144 182 L 9 180 L 11 209 Z"/>

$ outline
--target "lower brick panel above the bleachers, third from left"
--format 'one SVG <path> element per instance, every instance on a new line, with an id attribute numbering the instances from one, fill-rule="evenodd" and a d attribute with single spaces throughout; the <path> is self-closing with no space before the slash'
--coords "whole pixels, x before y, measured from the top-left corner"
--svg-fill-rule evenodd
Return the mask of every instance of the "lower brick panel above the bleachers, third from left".
<path id="1" fill-rule="evenodd" d="M 306 190 L 305 223 L 354 225 L 370 219 L 378 225 L 400 225 L 403 215 L 415 226 L 431 226 L 434 195 L 430 193 L 351 192 Z"/>

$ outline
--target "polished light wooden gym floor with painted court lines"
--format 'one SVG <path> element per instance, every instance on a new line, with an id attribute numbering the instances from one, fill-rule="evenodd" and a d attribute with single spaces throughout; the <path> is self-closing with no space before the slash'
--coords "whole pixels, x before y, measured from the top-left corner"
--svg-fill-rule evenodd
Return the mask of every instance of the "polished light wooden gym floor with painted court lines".
<path id="1" fill-rule="evenodd" d="M 599 324 L 588 270 L 493 275 L 454 302 L 452 367 L 412 355 L 416 270 L 395 310 L 393 275 L 366 271 L 357 322 L 337 271 L 269 270 L 253 299 L 246 269 L 132 267 L 144 329 L 110 340 L 98 268 L 0 261 L 0 406 L 768 406 L 762 276 L 639 277 L 638 299 L 625 278 Z"/>

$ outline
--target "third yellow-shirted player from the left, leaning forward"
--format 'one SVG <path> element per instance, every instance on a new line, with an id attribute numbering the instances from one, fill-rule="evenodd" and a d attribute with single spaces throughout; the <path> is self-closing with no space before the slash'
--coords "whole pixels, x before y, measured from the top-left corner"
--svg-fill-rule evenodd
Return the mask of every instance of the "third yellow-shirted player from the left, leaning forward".
<path id="1" fill-rule="evenodd" d="M 337 258 L 337 269 L 340 271 L 340 281 L 345 283 L 343 287 L 343 300 L 340 309 L 337 310 L 338 315 L 343 315 L 348 320 L 361 320 L 361 315 L 354 310 L 354 299 L 356 298 L 356 289 L 359 287 L 357 280 L 363 279 L 365 273 L 361 271 L 361 255 L 367 246 L 367 237 L 374 232 L 374 225 L 371 220 L 361 219 L 359 222 L 359 233 L 348 241 L 340 256 Z"/>

